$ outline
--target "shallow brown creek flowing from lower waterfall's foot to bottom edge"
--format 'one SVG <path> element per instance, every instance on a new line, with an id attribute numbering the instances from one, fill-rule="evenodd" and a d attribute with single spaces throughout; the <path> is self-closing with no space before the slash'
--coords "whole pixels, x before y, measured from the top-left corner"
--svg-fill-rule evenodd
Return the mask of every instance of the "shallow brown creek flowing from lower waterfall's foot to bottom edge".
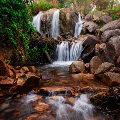
<path id="1" fill-rule="evenodd" d="M 79 80 L 69 74 L 71 62 L 54 62 L 39 66 L 42 80 L 37 92 L 0 98 L 0 120 L 112 120 L 96 112 L 89 101 L 93 87 L 108 89 L 94 79 Z"/>

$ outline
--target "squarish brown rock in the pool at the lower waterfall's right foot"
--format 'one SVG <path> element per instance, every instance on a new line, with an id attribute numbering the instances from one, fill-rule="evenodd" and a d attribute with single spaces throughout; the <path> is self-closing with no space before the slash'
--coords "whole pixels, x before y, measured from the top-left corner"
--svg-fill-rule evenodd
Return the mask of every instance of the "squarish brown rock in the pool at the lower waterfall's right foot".
<path id="1" fill-rule="evenodd" d="M 69 67 L 70 73 L 83 73 L 85 71 L 85 64 L 81 61 L 73 62 Z"/>

